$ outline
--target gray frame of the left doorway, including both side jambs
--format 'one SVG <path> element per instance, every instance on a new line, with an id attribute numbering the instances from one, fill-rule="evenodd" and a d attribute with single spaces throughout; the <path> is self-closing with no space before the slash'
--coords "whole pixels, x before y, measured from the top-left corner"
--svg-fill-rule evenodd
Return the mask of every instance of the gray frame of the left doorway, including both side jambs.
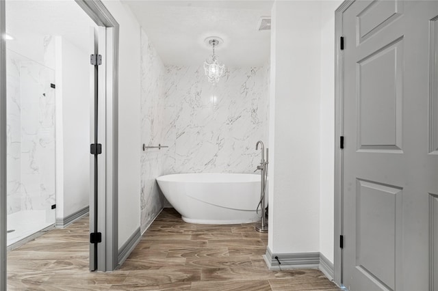
<path id="1" fill-rule="evenodd" d="M 119 26 L 101 0 L 75 0 L 101 27 L 106 27 L 105 71 L 105 192 L 99 199 L 99 230 L 102 242 L 98 249 L 97 271 L 113 271 L 118 265 L 118 35 Z M 0 0 L 0 290 L 6 290 L 7 195 L 6 195 L 6 45 L 5 1 Z"/>

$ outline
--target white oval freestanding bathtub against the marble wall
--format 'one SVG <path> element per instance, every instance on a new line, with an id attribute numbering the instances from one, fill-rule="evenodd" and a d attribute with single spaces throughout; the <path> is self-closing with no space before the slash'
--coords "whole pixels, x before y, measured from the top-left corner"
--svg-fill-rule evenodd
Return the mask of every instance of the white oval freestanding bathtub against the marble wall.
<path id="1" fill-rule="evenodd" d="M 158 177 L 157 182 L 185 222 L 233 224 L 260 219 L 256 213 L 259 175 L 174 174 Z"/>

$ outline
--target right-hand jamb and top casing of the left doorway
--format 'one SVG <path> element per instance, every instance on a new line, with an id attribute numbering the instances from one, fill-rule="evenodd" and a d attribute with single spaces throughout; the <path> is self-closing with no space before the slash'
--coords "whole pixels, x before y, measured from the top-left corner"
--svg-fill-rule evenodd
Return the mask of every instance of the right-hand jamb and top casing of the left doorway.
<path id="1" fill-rule="evenodd" d="M 118 266 L 118 42 L 119 25 L 101 0 L 75 0 L 96 25 L 106 28 L 105 52 L 105 197 L 99 197 L 98 227 L 102 243 L 97 248 L 96 271 L 114 271 Z M 101 94 L 99 94 L 100 96 Z M 100 191 L 99 191 L 100 192 Z"/>

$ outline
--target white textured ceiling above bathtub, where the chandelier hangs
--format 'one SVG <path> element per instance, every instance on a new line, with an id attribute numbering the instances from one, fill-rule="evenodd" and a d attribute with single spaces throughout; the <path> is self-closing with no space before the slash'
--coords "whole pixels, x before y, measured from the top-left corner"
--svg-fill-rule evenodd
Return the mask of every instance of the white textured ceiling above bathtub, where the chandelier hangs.
<path id="1" fill-rule="evenodd" d="M 123 0 L 138 19 L 164 64 L 202 64 L 211 55 L 205 38 L 224 40 L 216 47 L 226 66 L 263 66 L 270 55 L 270 31 L 259 31 L 273 1 Z"/>

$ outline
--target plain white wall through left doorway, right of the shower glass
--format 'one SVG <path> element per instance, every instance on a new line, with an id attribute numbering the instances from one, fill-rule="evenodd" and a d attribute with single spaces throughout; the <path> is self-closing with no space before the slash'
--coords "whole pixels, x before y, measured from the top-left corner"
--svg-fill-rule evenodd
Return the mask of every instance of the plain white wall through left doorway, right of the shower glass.
<path id="1" fill-rule="evenodd" d="M 62 102 L 57 109 L 57 123 L 62 126 L 57 151 L 57 163 L 62 169 L 62 184 L 57 188 L 57 208 L 62 208 L 61 217 L 88 206 L 90 197 L 90 67 L 87 51 L 71 44 L 65 38 L 57 41 L 57 53 L 61 61 L 60 73 L 57 74 L 57 102 Z M 60 78 L 60 79 L 59 79 Z M 59 169 L 59 168 L 58 168 Z"/>

